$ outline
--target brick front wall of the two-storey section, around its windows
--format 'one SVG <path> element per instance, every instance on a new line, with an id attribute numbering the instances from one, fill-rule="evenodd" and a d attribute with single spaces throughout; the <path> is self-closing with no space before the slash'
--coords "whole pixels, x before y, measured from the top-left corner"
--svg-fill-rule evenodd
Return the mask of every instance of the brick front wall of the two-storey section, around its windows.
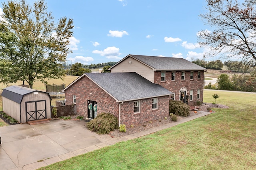
<path id="1" fill-rule="evenodd" d="M 175 93 L 175 100 L 179 100 L 179 90 L 186 87 L 187 94 L 193 90 L 193 100 L 188 105 L 195 105 L 197 100 L 203 101 L 204 95 L 204 71 L 198 79 L 198 71 L 194 71 L 194 79 L 190 80 L 190 71 L 185 71 L 185 80 L 181 80 L 182 71 L 175 71 L 175 81 L 172 81 L 172 71 L 166 71 L 166 81 L 161 81 L 161 71 L 155 71 L 155 83 Z M 197 89 L 200 89 L 200 99 L 197 99 Z"/>

